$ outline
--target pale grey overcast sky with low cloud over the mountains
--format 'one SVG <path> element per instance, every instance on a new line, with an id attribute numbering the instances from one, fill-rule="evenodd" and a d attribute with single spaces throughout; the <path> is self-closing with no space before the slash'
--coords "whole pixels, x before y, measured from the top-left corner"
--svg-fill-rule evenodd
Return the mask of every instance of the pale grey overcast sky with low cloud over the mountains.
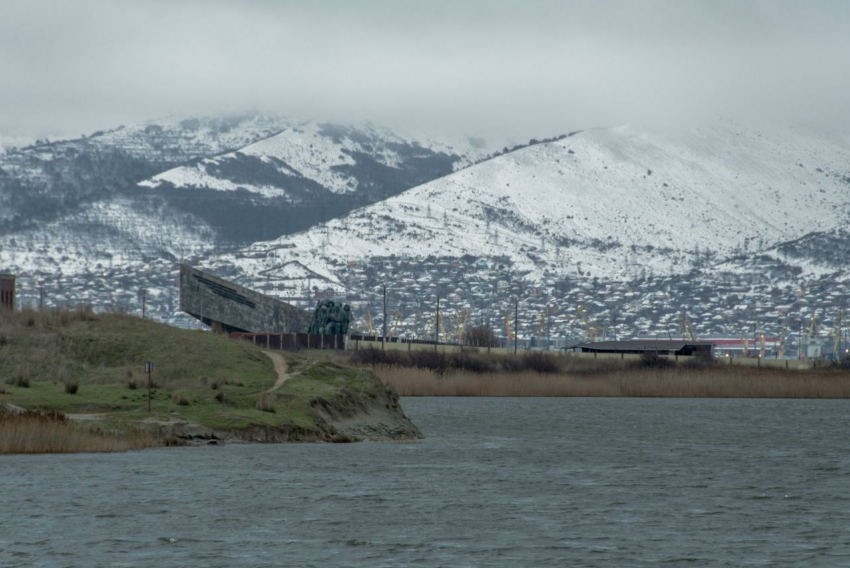
<path id="1" fill-rule="evenodd" d="M 481 135 L 850 126 L 850 1 L 0 0 L 0 135 L 257 108 Z"/>

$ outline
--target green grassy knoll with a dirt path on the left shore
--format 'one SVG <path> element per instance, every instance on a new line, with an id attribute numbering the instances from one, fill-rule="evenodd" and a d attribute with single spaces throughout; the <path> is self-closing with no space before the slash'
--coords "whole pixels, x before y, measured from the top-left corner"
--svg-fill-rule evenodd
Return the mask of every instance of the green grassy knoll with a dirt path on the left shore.
<path id="1" fill-rule="evenodd" d="M 309 401 L 345 386 L 377 394 L 368 371 L 286 354 L 291 378 L 274 392 L 275 412 L 256 408 L 277 375 L 271 360 L 246 342 L 172 328 L 123 314 L 4 312 L 0 314 L 0 402 L 33 410 L 97 414 L 121 430 L 148 416 L 177 415 L 215 429 L 295 426 L 316 429 Z M 151 414 L 145 362 L 154 365 Z M 29 388 L 6 385 L 25 377 Z M 77 381 L 76 394 L 64 382 Z M 128 387 L 135 382 L 137 388 Z M 213 386 L 217 388 L 212 388 Z M 178 396 L 175 397 L 175 393 Z M 216 395 L 223 393 L 221 401 Z M 188 405 L 177 404 L 185 398 Z"/>

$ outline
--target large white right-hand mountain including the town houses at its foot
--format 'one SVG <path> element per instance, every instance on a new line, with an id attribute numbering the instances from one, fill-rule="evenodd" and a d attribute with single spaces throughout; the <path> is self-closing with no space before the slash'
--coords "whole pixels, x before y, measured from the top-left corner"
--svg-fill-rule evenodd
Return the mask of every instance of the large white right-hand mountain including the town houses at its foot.
<path id="1" fill-rule="evenodd" d="M 555 306 L 560 337 L 579 305 L 620 335 L 670 330 L 682 311 L 700 333 L 749 329 L 754 310 L 778 333 L 789 306 L 811 313 L 795 295 L 806 282 L 834 295 L 818 304 L 828 318 L 850 302 L 835 252 L 850 245 L 848 174 L 850 147 L 791 129 L 593 129 L 204 265 L 284 298 L 344 294 L 361 327 L 369 310 L 380 321 L 388 284 L 418 334 L 437 296 L 491 323 L 519 299 L 522 330 Z"/>

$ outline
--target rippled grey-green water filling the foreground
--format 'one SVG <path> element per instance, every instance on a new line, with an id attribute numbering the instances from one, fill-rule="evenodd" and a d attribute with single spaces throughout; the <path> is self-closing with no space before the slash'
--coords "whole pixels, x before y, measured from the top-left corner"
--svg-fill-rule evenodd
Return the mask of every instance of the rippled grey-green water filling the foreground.
<path id="1" fill-rule="evenodd" d="M 418 443 L 0 457 L 0 566 L 850 566 L 850 403 L 404 399 Z"/>

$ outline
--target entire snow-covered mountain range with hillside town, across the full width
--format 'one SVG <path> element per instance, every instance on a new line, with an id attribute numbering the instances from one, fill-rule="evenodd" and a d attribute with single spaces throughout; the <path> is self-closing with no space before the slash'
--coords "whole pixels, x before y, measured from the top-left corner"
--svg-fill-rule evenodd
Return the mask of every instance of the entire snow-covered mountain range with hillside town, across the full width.
<path id="1" fill-rule="evenodd" d="M 494 154 L 246 120 L 215 144 L 215 129 L 175 121 L 147 142 L 132 127 L 105 146 L 106 133 L 0 156 L 0 269 L 24 273 L 25 301 L 44 286 L 48 305 L 134 309 L 146 288 L 171 322 L 180 260 L 305 307 L 344 294 L 358 325 L 367 310 L 380 322 L 386 283 L 395 323 L 420 334 L 438 295 L 490 323 L 519 299 L 521 333 L 545 312 L 559 337 L 582 331 L 579 305 L 619 336 L 663 335 L 682 311 L 700 334 L 737 333 L 756 313 L 778 330 L 850 306 L 847 139 L 622 126 Z M 184 142 L 157 153 L 169 136 Z"/>

